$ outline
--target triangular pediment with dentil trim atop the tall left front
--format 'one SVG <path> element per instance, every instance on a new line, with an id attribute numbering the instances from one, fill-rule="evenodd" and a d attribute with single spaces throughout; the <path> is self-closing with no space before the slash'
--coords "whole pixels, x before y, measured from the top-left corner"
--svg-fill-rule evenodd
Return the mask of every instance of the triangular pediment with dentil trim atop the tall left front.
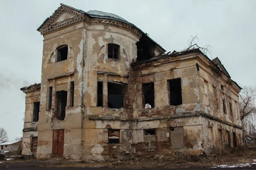
<path id="1" fill-rule="evenodd" d="M 44 34 L 45 32 L 49 32 L 49 30 L 52 31 L 57 28 L 61 28 L 63 25 L 67 26 L 73 20 L 78 20 L 79 18 L 83 17 L 83 15 L 84 11 L 61 4 L 61 6 L 52 14 L 52 16 L 47 18 L 38 28 L 38 31 L 40 31 L 41 34 Z"/>

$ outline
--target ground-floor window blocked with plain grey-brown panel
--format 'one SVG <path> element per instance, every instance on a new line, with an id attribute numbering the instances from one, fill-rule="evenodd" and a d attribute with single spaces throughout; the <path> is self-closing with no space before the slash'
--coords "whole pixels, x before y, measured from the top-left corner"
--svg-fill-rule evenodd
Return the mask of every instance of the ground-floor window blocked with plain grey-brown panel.
<path id="1" fill-rule="evenodd" d="M 184 134 L 182 127 L 170 127 L 171 148 L 184 147 Z"/>

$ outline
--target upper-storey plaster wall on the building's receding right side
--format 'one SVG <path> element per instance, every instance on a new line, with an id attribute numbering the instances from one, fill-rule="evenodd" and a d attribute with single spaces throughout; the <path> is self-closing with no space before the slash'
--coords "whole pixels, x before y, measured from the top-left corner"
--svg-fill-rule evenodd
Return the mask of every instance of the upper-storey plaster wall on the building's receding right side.
<path id="1" fill-rule="evenodd" d="M 239 88 L 224 73 L 215 72 L 209 65 L 198 59 L 199 94 L 202 110 L 222 120 L 241 126 L 239 115 Z M 224 86 L 224 90 L 221 89 Z M 225 99 L 226 113 L 223 111 L 222 99 Z M 230 103 L 232 111 L 230 111 Z"/>

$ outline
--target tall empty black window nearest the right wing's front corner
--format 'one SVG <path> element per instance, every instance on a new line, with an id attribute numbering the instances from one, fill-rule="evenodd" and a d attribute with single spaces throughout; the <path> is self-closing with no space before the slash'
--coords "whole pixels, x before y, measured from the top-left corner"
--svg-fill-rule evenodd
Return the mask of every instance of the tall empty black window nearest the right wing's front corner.
<path id="1" fill-rule="evenodd" d="M 177 106 L 182 104 L 180 78 L 169 80 L 169 93 L 170 93 L 170 105 Z"/>

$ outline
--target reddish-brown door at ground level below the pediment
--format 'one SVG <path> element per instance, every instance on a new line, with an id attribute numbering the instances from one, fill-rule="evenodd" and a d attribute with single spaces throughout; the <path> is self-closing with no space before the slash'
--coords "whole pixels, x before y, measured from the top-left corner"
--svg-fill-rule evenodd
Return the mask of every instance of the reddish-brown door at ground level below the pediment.
<path id="1" fill-rule="evenodd" d="M 64 130 L 53 130 L 52 153 L 63 155 L 64 151 Z"/>

